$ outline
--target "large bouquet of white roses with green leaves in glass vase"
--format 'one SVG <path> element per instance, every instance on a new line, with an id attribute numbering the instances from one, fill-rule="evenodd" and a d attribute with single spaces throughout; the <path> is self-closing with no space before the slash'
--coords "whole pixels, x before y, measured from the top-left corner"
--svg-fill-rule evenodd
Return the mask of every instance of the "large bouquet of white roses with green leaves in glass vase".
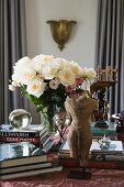
<path id="1" fill-rule="evenodd" d="M 52 55 L 27 56 L 19 59 L 13 67 L 9 89 L 21 88 L 22 95 L 36 106 L 36 111 L 44 116 L 53 130 L 53 117 L 60 109 L 67 97 L 77 98 L 82 92 L 82 85 L 95 78 L 92 68 L 81 68 L 77 63 Z"/>

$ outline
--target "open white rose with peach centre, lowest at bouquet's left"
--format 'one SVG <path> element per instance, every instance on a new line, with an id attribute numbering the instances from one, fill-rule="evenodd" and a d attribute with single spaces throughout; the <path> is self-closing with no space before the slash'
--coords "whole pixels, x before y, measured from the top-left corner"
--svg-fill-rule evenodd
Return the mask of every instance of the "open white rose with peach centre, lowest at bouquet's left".
<path id="1" fill-rule="evenodd" d="M 26 91 L 30 95 L 36 96 L 40 98 L 41 95 L 43 95 L 45 90 L 45 84 L 42 79 L 35 78 L 32 81 L 29 82 Z"/>

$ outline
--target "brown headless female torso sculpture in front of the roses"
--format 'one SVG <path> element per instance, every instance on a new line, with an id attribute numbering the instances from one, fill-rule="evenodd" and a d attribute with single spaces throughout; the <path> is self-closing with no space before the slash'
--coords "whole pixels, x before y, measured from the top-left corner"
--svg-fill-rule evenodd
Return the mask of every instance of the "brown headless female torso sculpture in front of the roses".
<path id="1" fill-rule="evenodd" d="M 72 119 L 67 135 L 70 157 L 79 158 L 80 165 L 83 167 L 87 167 L 88 154 L 92 143 L 90 117 L 97 103 L 97 100 L 88 95 L 65 101 L 65 108 Z"/>

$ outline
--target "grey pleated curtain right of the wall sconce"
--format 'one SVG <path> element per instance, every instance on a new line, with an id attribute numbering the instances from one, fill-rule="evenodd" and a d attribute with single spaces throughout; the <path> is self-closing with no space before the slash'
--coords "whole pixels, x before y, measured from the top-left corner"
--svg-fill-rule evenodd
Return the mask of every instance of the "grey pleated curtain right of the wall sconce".
<path id="1" fill-rule="evenodd" d="M 110 87 L 110 114 L 124 110 L 124 0 L 99 0 L 95 68 L 117 67 L 117 84 Z"/>

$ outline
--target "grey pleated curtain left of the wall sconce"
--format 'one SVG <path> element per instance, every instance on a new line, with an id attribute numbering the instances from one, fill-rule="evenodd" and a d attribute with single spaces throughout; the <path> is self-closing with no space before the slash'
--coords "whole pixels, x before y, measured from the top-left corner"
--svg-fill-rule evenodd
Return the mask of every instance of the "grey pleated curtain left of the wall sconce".
<path id="1" fill-rule="evenodd" d="M 14 63 L 26 55 L 24 0 L 0 0 L 0 124 L 8 123 L 9 113 L 16 108 L 27 110 L 20 91 L 9 91 Z"/>

